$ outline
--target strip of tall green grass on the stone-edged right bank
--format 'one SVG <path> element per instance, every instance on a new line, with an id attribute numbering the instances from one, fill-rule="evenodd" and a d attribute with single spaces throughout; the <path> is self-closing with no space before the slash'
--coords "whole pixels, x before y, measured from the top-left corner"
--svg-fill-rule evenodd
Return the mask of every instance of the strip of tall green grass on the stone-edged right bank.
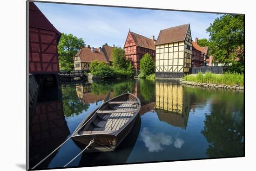
<path id="1" fill-rule="evenodd" d="M 189 82 L 206 82 L 206 83 L 213 83 L 213 84 L 224 84 L 224 85 L 240 85 L 243 86 L 243 74 L 238 73 L 224 73 L 224 74 L 213 74 L 211 72 L 206 72 L 202 74 L 199 72 L 196 75 L 187 75 L 183 79 L 184 81 Z"/>

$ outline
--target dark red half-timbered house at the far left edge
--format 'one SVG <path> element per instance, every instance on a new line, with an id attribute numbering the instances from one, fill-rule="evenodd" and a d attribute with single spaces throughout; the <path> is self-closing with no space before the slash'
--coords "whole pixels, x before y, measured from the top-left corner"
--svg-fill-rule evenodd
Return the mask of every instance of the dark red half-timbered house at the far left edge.
<path id="1" fill-rule="evenodd" d="M 56 74 L 60 71 L 57 45 L 61 33 L 34 2 L 29 2 L 29 73 Z"/>

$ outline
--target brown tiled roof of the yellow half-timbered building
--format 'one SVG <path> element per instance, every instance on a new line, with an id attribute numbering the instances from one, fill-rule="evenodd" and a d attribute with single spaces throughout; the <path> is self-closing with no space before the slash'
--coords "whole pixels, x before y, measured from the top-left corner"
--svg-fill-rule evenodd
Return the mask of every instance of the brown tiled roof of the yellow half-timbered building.
<path id="1" fill-rule="evenodd" d="M 185 24 L 161 30 L 155 45 L 184 41 L 188 29 L 189 24 Z"/>

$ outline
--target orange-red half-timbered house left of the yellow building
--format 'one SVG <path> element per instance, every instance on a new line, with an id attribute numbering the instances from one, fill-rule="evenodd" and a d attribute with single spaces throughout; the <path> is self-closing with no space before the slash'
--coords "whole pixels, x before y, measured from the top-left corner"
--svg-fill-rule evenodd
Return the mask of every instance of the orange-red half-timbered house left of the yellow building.
<path id="1" fill-rule="evenodd" d="M 130 60 L 135 70 L 140 69 L 140 60 L 148 53 L 155 61 L 155 38 L 146 38 L 140 34 L 129 31 L 124 44 L 126 59 Z"/>

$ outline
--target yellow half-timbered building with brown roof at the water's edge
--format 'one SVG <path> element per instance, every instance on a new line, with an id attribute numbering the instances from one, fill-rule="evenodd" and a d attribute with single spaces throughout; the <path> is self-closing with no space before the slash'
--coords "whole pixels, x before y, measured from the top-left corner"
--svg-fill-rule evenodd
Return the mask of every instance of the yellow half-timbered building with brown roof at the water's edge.
<path id="1" fill-rule="evenodd" d="M 192 57 L 190 25 L 161 30 L 155 43 L 155 76 L 181 78 L 189 73 Z"/>

